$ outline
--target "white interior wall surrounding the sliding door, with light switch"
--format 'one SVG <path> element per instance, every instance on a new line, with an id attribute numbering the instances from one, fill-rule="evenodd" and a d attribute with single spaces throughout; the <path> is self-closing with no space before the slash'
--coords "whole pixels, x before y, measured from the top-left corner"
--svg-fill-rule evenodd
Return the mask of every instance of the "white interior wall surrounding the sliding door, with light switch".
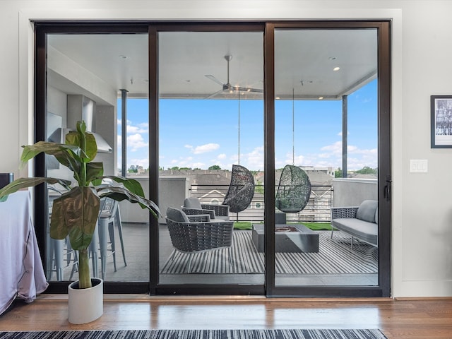
<path id="1" fill-rule="evenodd" d="M 429 145 L 429 96 L 452 94 L 450 13 L 439 0 L 0 0 L 0 172 L 18 177 L 20 145 L 32 141 L 30 19 L 392 18 L 393 296 L 451 297 L 452 150 Z M 410 159 L 429 172 L 410 173 Z"/>

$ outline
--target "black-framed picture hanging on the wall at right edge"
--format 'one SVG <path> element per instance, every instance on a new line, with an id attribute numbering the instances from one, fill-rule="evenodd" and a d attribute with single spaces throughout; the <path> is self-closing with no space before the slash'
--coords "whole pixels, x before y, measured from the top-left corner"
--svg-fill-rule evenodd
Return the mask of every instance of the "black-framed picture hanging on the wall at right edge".
<path id="1" fill-rule="evenodd" d="M 431 148 L 452 148 L 452 95 L 432 95 Z"/>

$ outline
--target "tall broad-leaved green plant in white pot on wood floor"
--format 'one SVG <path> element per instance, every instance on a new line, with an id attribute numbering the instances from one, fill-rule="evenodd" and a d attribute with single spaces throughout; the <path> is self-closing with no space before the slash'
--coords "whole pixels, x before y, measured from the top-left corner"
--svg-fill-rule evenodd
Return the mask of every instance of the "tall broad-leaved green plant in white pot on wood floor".
<path id="1" fill-rule="evenodd" d="M 78 282 L 69 286 L 69 294 L 71 294 L 71 288 L 74 287 L 78 290 L 94 288 L 93 279 L 90 277 L 88 247 L 97 224 L 100 198 L 109 197 L 117 201 L 127 200 L 131 203 L 138 203 L 141 208 L 148 208 L 155 218 L 159 213 L 157 205 L 144 198 L 143 188 L 135 179 L 103 175 L 103 163 L 93 161 L 97 154 L 97 144 L 93 134 L 86 131 L 84 121 L 78 121 L 77 130 L 70 131 L 66 135 L 64 144 L 39 141 L 34 145 L 25 145 L 23 148 L 20 157 L 22 167 L 28 160 L 40 153 L 53 155 L 61 165 L 71 169 L 77 185 L 72 186 L 70 180 L 51 177 L 20 178 L 0 189 L 0 201 L 5 201 L 9 194 L 19 189 L 42 183 L 63 186 L 64 194 L 54 199 L 50 220 L 50 237 L 65 239 L 69 236 L 72 249 L 78 251 Z M 102 179 L 107 178 L 121 186 L 102 184 Z M 99 283 L 102 285 L 102 280 Z M 102 293 L 101 288 L 101 296 Z M 92 296 L 88 298 L 93 299 Z M 78 301 L 83 307 L 83 302 Z M 102 305 L 100 307 L 100 314 L 97 311 L 94 319 L 85 319 L 85 312 L 88 312 L 90 307 L 85 305 L 81 311 L 75 311 L 81 312 L 81 314 L 73 314 L 74 311 L 71 312 L 71 295 L 69 295 L 69 321 L 72 320 L 71 318 L 75 319 L 71 321 L 74 323 L 93 321 L 102 315 Z M 78 316 L 81 316 L 81 319 Z"/>

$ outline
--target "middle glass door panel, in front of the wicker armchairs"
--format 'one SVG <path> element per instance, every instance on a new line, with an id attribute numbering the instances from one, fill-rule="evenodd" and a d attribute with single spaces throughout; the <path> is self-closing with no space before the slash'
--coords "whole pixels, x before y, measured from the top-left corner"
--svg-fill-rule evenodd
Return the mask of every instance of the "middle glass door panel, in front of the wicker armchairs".
<path id="1" fill-rule="evenodd" d="M 263 33 L 158 42 L 159 283 L 262 285 Z"/>

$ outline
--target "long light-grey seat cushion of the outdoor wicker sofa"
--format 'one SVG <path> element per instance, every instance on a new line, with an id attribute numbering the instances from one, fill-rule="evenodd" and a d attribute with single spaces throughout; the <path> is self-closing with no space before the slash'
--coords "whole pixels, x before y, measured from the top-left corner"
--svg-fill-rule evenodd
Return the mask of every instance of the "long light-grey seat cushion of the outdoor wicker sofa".
<path id="1" fill-rule="evenodd" d="M 374 222 L 367 222 L 355 218 L 338 218 L 331 221 L 331 226 L 347 232 L 352 237 L 362 239 L 364 242 L 369 242 L 374 245 L 378 244 L 379 227 Z"/>

